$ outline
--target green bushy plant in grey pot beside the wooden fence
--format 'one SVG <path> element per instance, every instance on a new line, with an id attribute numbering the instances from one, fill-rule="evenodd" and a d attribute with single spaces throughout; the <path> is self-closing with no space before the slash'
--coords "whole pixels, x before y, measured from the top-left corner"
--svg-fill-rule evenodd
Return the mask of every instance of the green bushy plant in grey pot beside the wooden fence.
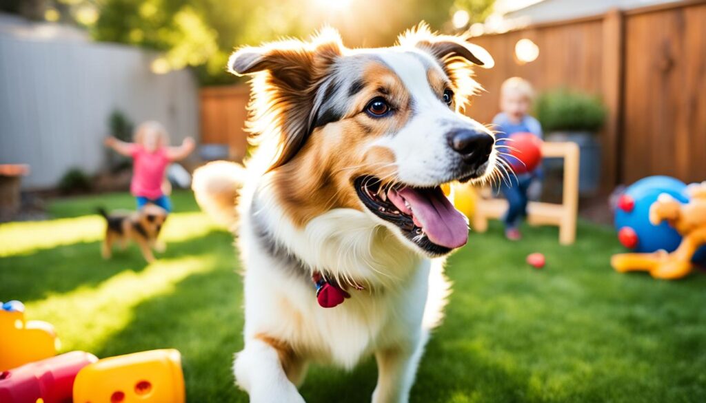
<path id="1" fill-rule="evenodd" d="M 597 133 L 606 120 L 606 108 L 601 100 L 582 92 L 559 89 L 540 95 L 535 109 L 535 116 L 546 133 L 545 140 L 578 144 L 579 191 L 595 193 L 601 174 Z M 551 163 L 549 165 L 551 167 Z"/>

